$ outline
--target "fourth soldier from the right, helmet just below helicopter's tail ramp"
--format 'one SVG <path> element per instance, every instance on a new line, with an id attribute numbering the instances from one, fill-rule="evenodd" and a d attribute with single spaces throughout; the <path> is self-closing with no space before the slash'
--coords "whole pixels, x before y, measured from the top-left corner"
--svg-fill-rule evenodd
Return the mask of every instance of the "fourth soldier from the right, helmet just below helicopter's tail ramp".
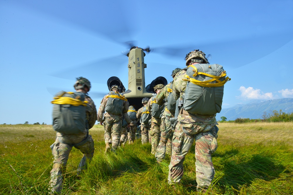
<path id="1" fill-rule="evenodd" d="M 149 101 L 149 98 L 143 98 L 142 99 L 142 107 L 138 109 L 137 113 L 136 113 L 136 118 L 140 119 L 143 114 L 146 115 L 146 119 L 147 119 L 147 115 L 150 113 L 147 111 L 147 103 Z M 145 111 L 144 111 L 145 110 Z M 141 130 L 141 134 L 142 134 L 142 144 L 146 144 L 149 142 L 149 130 L 150 130 L 150 125 L 149 122 L 143 122 L 141 121 L 141 125 L 140 125 L 140 130 Z"/>

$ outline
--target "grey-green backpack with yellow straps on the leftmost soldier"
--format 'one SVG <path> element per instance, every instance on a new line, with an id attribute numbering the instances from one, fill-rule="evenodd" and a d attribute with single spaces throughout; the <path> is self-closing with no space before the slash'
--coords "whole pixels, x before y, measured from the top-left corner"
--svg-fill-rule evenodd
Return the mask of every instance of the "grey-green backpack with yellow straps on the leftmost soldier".
<path id="1" fill-rule="evenodd" d="M 58 92 L 53 104 L 53 129 L 65 134 L 78 134 L 87 128 L 86 106 L 81 92 Z"/>

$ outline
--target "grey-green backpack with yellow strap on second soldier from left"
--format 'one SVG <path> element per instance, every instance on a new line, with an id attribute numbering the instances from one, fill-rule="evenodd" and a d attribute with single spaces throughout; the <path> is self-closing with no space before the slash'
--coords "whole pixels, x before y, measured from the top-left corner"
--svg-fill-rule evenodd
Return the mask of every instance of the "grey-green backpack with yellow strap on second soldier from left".
<path id="1" fill-rule="evenodd" d="M 108 98 L 108 101 L 106 103 L 105 111 L 107 113 L 111 113 L 115 115 L 122 114 L 123 102 L 127 101 L 125 96 L 121 95 L 118 92 L 110 91 L 108 93 L 108 96 L 106 96 L 106 98 Z"/>

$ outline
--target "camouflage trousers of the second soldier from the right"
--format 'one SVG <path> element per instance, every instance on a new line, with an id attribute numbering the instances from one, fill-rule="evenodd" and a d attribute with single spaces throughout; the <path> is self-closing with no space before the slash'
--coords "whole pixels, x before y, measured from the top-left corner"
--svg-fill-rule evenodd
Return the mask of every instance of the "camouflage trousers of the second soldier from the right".
<path id="1" fill-rule="evenodd" d="M 171 134 L 172 134 L 172 126 L 170 122 L 170 117 L 163 115 L 161 118 L 161 139 L 159 142 L 159 146 L 156 150 L 155 157 L 157 161 L 163 161 L 165 159 L 166 154 L 166 144 L 167 141 L 170 140 Z M 171 149 L 172 150 L 172 149 Z M 170 152 L 171 153 L 171 152 Z"/>

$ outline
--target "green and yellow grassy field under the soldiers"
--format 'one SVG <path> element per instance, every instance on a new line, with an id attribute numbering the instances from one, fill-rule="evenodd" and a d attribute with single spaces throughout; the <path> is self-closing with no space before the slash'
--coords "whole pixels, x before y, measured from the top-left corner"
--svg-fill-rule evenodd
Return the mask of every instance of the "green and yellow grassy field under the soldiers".
<path id="1" fill-rule="evenodd" d="M 95 154 L 77 178 L 82 157 L 72 150 L 62 194 L 197 194 L 194 147 L 184 161 L 182 184 L 167 184 L 170 157 L 157 165 L 140 140 L 104 154 L 103 127 L 90 130 Z M 293 194 L 293 123 L 220 123 L 210 194 Z M 51 125 L 0 125 L 0 194 L 48 194 L 55 133 Z"/>

